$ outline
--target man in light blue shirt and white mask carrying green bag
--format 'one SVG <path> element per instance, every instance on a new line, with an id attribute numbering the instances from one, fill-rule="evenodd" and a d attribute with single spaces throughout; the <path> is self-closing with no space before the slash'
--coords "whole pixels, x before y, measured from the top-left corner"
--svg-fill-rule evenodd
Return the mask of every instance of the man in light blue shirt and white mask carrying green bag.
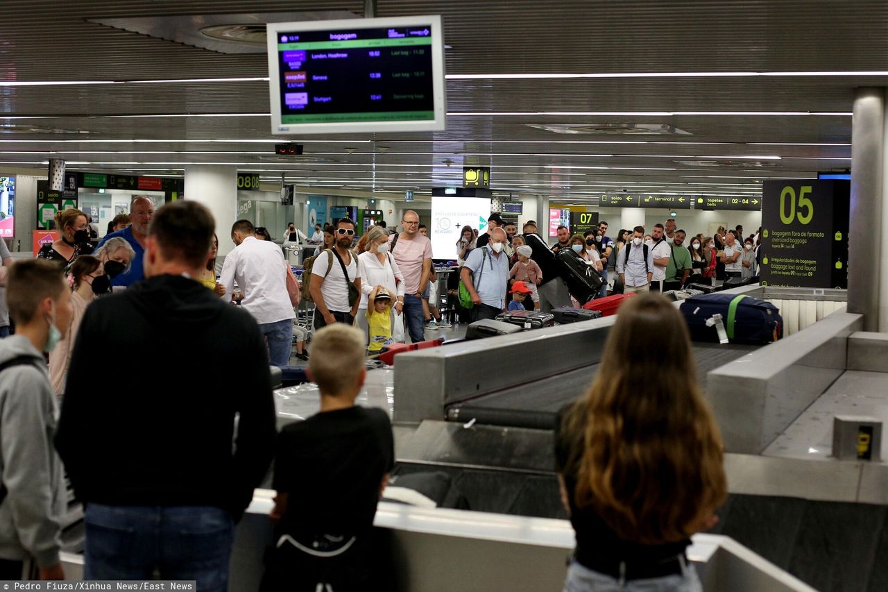
<path id="1" fill-rule="evenodd" d="M 472 321 L 496 318 L 505 311 L 509 283 L 509 256 L 503 250 L 509 242 L 503 228 L 490 231 L 486 246 L 472 249 L 465 260 L 460 279 L 472 295 Z"/>

